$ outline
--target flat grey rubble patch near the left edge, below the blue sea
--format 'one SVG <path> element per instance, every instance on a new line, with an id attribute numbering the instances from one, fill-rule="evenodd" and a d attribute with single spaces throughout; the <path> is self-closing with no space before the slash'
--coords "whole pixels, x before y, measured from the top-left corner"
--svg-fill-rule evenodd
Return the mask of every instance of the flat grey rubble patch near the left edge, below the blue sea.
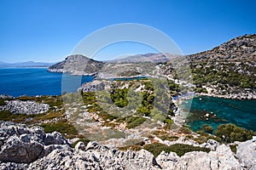
<path id="1" fill-rule="evenodd" d="M 6 105 L 0 106 L 0 111 L 9 110 L 12 114 L 39 114 L 49 110 L 48 104 L 38 104 L 35 101 L 7 100 Z"/>

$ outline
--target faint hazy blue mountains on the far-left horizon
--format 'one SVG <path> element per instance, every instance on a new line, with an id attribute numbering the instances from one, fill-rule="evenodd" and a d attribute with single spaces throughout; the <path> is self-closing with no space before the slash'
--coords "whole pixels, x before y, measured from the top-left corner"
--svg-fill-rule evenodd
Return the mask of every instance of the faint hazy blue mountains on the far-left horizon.
<path id="1" fill-rule="evenodd" d="M 26 62 L 19 62 L 19 63 L 0 62 L 0 68 L 8 68 L 8 67 L 49 67 L 50 65 L 54 65 L 54 63 L 44 63 L 44 62 L 34 62 L 34 61 L 26 61 Z"/>

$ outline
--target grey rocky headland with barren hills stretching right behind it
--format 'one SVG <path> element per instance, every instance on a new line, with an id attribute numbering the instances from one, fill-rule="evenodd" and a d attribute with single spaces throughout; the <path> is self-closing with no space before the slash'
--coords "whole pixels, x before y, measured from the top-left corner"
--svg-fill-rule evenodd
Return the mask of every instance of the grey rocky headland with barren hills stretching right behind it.
<path id="1" fill-rule="evenodd" d="M 48 71 L 72 75 L 95 75 L 97 73 L 100 78 L 154 75 L 155 66 L 172 57 L 171 54 L 138 54 L 102 62 L 75 54 L 50 66 Z"/>

